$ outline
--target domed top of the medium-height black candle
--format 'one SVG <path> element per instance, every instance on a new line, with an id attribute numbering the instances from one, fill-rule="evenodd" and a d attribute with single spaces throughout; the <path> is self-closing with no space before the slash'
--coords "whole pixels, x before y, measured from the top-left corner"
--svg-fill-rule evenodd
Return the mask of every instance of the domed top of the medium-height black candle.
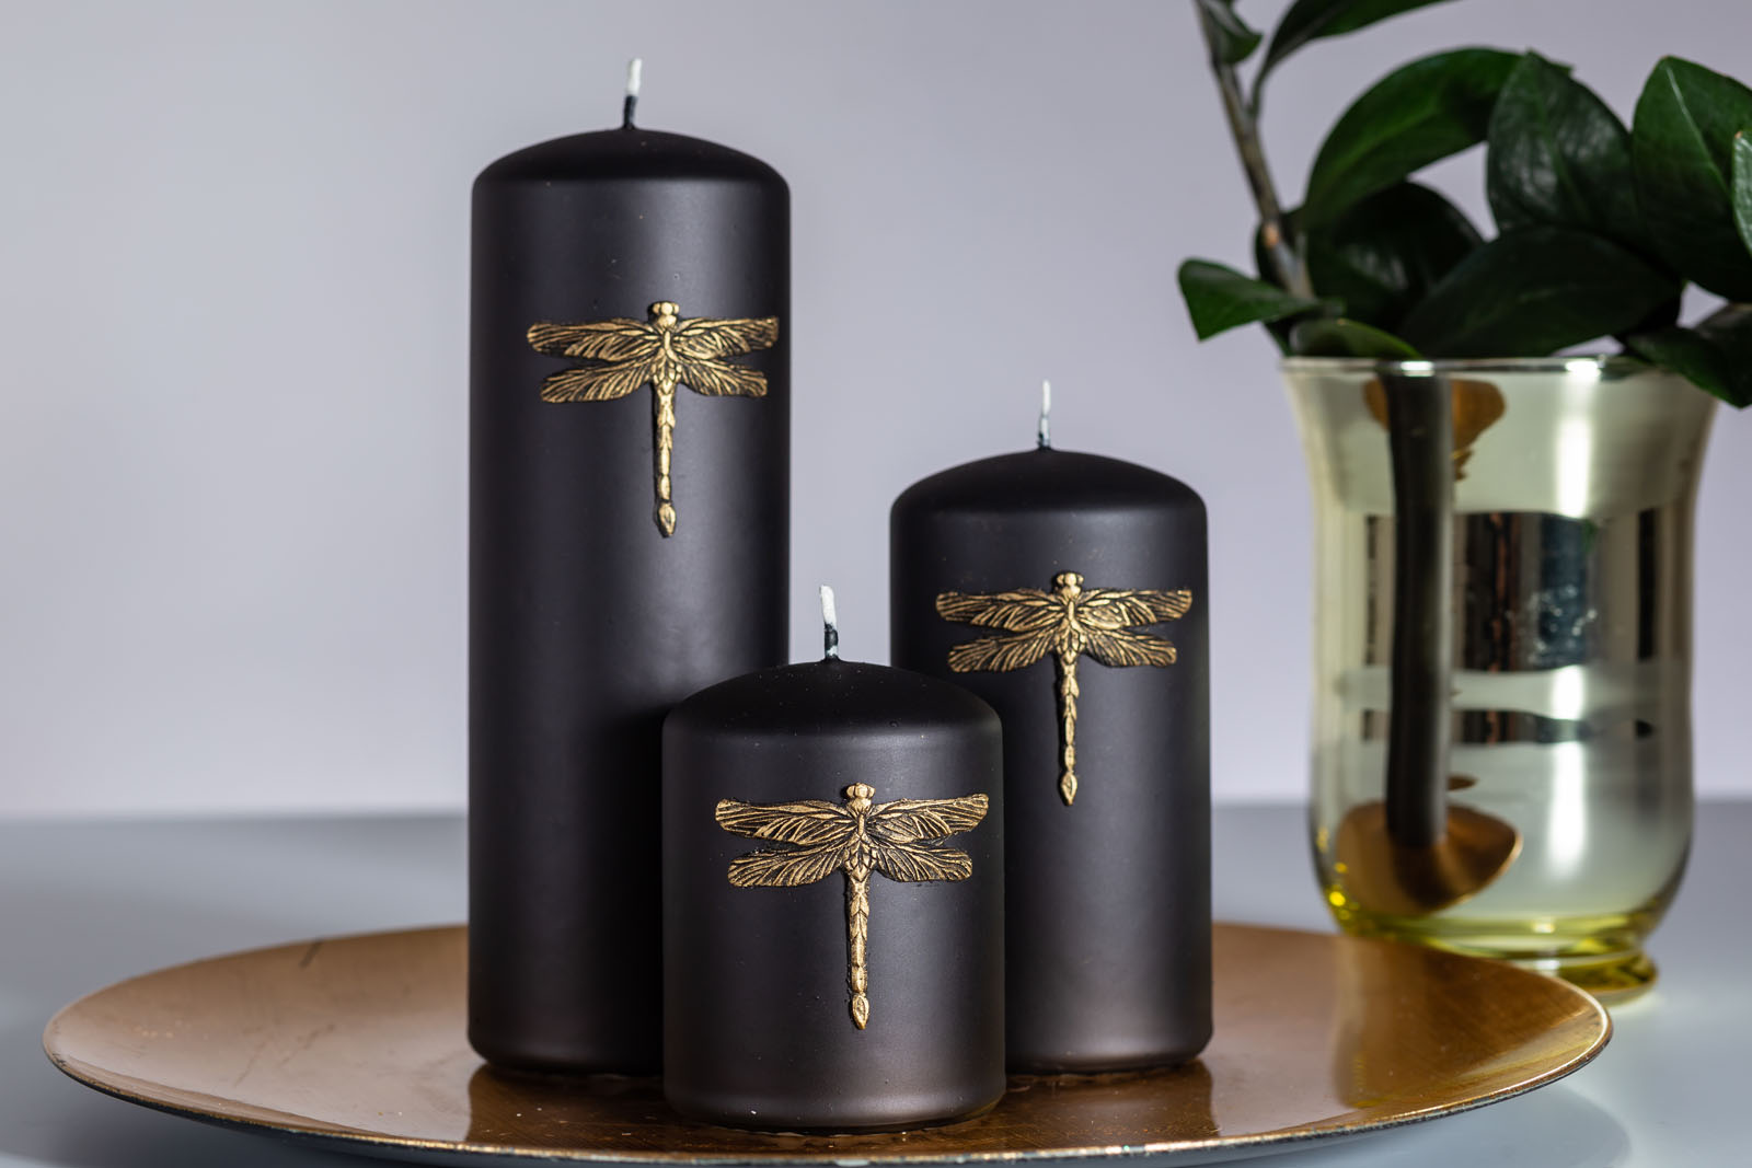
<path id="1" fill-rule="evenodd" d="M 1197 490 L 1162 471 L 1056 447 L 962 462 L 918 480 L 894 503 L 965 511 L 1084 511 L 1197 503 Z"/>

